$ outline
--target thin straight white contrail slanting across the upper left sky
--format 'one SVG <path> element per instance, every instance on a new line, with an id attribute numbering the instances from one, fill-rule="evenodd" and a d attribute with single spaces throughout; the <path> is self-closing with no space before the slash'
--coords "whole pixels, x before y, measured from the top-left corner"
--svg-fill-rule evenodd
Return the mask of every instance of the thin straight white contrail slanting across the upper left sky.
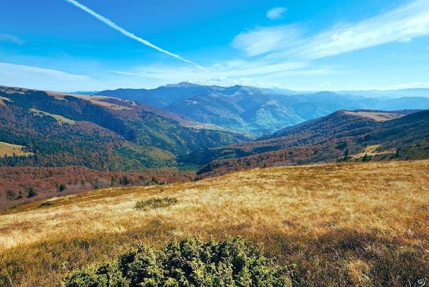
<path id="1" fill-rule="evenodd" d="M 162 53 L 166 53 L 167 55 L 171 55 L 174 58 L 177 58 L 179 60 L 182 60 L 186 63 L 190 63 L 190 64 L 194 64 L 195 66 L 197 66 L 198 68 L 202 68 L 203 70 L 206 70 L 206 68 L 199 66 L 199 64 L 196 64 L 190 60 L 186 60 L 182 57 L 180 57 L 180 55 L 176 55 L 174 53 L 171 53 L 167 50 L 161 49 L 160 47 L 155 46 L 154 44 L 152 44 L 151 42 L 144 40 L 134 34 L 132 34 L 131 32 L 128 32 L 127 30 L 123 29 L 122 27 L 119 27 L 118 25 L 116 25 L 115 23 L 113 23 L 112 21 L 110 21 L 108 18 L 101 16 L 100 14 L 98 14 L 97 12 L 94 12 L 93 10 L 90 10 L 90 8 L 86 7 L 85 5 L 82 5 L 81 3 L 75 1 L 75 0 L 66 0 L 67 2 L 72 3 L 73 5 L 75 5 L 78 8 L 81 8 L 82 10 L 88 12 L 89 14 L 93 15 L 95 18 L 99 19 L 99 21 L 105 23 L 106 25 L 108 25 L 109 27 L 112 27 L 113 29 L 121 32 L 122 34 L 124 34 L 125 36 L 127 36 L 128 38 L 132 38 L 134 40 L 137 40 L 138 42 L 147 45 L 151 48 L 154 48 Z"/>

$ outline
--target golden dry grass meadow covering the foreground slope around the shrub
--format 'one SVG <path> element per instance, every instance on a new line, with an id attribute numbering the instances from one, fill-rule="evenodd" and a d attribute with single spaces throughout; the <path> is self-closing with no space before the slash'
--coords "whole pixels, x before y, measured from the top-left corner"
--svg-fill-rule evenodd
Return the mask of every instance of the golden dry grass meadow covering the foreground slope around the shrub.
<path id="1" fill-rule="evenodd" d="M 429 160 L 254 169 L 3 210 L 0 286 L 58 286 L 138 242 L 195 234 L 262 242 L 293 286 L 427 286 Z"/>

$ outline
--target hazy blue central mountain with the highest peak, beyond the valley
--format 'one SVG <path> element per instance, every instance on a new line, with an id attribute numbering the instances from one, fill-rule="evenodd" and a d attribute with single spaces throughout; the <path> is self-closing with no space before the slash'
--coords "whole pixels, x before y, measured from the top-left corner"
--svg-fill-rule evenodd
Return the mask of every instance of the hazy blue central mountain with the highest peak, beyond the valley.
<path id="1" fill-rule="evenodd" d="M 200 123 L 221 125 L 254 136 L 305 121 L 294 114 L 287 103 L 282 103 L 282 95 L 247 86 L 201 86 L 184 82 L 153 90 L 106 90 L 97 95 L 148 103 Z"/>

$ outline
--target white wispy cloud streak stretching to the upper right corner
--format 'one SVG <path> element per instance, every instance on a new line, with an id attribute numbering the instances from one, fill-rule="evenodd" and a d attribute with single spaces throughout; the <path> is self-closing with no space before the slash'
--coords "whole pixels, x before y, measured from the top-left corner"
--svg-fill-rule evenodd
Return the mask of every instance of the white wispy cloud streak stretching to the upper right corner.
<path id="1" fill-rule="evenodd" d="M 412 38 L 427 35 L 429 1 L 416 0 L 360 23 L 337 25 L 309 38 L 302 36 L 296 26 L 258 27 L 236 36 L 232 46 L 250 57 L 272 53 L 280 58 L 310 60 L 388 42 L 409 42 Z"/>

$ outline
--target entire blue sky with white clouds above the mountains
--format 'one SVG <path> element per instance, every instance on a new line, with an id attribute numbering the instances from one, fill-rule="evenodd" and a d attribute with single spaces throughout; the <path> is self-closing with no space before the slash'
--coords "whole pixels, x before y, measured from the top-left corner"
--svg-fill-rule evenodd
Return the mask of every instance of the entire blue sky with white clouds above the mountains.
<path id="1" fill-rule="evenodd" d="M 429 88 L 428 0 L 6 0 L 0 85 Z"/>

